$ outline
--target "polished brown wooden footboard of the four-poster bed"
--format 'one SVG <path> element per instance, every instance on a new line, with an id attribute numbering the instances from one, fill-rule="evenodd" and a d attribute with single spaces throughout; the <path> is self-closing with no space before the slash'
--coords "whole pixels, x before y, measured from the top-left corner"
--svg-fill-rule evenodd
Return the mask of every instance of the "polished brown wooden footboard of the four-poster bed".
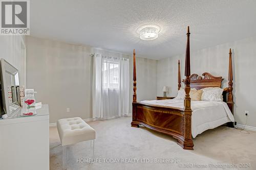
<path id="1" fill-rule="evenodd" d="M 185 140 L 184 136 L 187 133 L 191 136 L 191 125 L 185 124 L 187 120 L 190 122 L 191 115 L 186 120 L 184 120 L 185 117 L 184 110 L 179 108 L 133 103 L 133 121 L 131 124 L 132 127 L 143 125 L 154 131 L 173 136 L 183 149 L 193 150 L 193 141 Z"/>

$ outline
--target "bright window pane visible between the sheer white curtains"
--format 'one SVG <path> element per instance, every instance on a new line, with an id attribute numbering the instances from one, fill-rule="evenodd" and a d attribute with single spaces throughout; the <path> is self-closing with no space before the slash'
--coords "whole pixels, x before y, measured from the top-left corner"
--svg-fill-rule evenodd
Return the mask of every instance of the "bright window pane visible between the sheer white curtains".
<path id="1" fill-rule="evenodd" d="M 119 88 L 119 63 L 103 61 L 102 69 L 104 88 Z"/>

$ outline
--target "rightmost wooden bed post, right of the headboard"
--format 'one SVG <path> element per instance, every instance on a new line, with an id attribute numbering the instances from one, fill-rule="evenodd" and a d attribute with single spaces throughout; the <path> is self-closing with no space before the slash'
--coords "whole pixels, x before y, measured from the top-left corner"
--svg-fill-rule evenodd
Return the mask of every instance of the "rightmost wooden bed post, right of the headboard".
<path id="1" fill-rule="evenodd" d="M 234 102 L 233 102 L 233 68 L 232 68 L 232 52 L 231 48 L 229 48 L 229 66 L 228 66 L 228 97 L 227 97 L 227 105 L 232 114 L 234 114 Z M 228 123 L 229 127 L 234 127 L 233 123 Z"/>

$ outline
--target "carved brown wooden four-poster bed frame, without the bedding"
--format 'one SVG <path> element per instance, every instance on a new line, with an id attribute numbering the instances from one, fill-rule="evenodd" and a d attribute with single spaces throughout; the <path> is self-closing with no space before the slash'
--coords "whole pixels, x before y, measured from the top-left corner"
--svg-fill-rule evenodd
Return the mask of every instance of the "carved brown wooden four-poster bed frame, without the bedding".
<path id="1" fill-rule="evenodd" d="M 143 125 L 147 128 L 168 134 L 177 139 L 177 143 L 186 150 L 193 150 L 194 143 L 192 140 L 191 130 L 191 99 L 189 96 L 190 88 L 202 89 L 205 87 L 220 87 L 222 77 L 215 77 L 205 72 L 201 77 L 197 74 L 190 76 L 190 46 L 189 46 L 189 27 L 187 28 L 187 43 L 185 55 L 185 79 L 182 81 L 185 85 L 185 98 L 183 107 L 170 107 L 150 103 L 137 103 L 136 95 L 136 58 L 134 50 L 134 88 L 133 88 L 133 120 L 132 127 Z M 231 49 L 229 50 L 229 73 L 228 87 L 223 91 L 223 101 L 233 114 L 233 94 L 232 94 L 232 59 Z M 178 62 L 178 90 L 181 88 L 180 61 Z M 226 98 L 226 94 L 227 98 Z M 165 101 L 165 100 L 164 100 Z M 193 110 L 194 111 L 194 110 Z M 194 112 L 193 112 L 194 113 Z M 230 114 L 231 114 L 230 113 Z M 197 115 L 198 116 L 198 115 Z M 228 121 L 226 121 L 228 122 Z M 223 122 L 222 122 L 223 123 Z M 232 127 L 232 122 L 228 125 Z M 200 134 L 200 133 L 199 133 Z"/>

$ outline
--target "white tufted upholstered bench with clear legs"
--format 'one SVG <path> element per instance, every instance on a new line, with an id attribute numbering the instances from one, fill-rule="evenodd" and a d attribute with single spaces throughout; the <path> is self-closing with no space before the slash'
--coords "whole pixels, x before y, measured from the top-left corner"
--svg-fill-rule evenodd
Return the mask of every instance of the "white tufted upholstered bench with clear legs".
<path id="1" fill-rule="evenodd" d="M 80 117 L 62 118 L 57 121 L 57 130 L 62 145 L 62 163 L 63 169 L 66 169 L 66 145 L 74 144 L 96 138 L 95 130 L 84 122 Z"/>

